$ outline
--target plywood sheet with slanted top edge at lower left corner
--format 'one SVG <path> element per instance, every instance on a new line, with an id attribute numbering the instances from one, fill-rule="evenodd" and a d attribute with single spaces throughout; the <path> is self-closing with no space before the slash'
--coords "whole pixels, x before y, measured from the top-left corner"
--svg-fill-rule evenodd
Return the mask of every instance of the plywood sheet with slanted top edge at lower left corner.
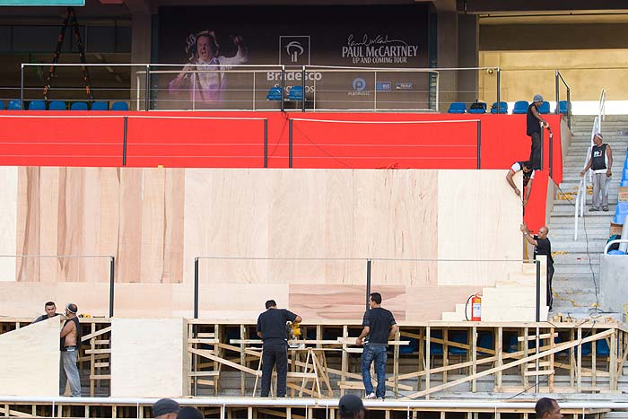
<path id="1" fill-rule="evenodd" d="M 0 335 L 0 394 L 57 397 L 59 319 Z"/>

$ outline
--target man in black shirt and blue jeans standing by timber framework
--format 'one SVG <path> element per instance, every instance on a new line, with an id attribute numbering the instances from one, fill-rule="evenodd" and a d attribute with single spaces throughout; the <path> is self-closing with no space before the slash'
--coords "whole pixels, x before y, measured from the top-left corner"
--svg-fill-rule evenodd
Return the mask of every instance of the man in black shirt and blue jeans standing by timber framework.
<path id="1" fill-rule="evenodd" d="M 373 292 L 369 295 L 369 307 L 362 319 L 362 333 L 355 339 L 355 345 L 364 345 L 362 351 L 362 382 L 366 390 L 366 398 L 386 397 L 386 348 L 388 339 L 397 333 L 397 322 L 392 313 L 381 308 L 381 294 Z M 366 342 L 363 340 L 366 336 Z M 371 382 L 371 363 L 375 362 L 377 389 L 373 393 Z"/>

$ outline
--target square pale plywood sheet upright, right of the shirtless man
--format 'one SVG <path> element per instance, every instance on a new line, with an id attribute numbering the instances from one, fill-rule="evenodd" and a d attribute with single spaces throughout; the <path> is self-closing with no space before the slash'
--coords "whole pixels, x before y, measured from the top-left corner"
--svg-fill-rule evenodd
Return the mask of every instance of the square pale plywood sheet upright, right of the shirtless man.
<path id="1" fill-rule="evenodd" d="M 187 396 L 187 322 L 113 319 L 111 397 Z"/>

